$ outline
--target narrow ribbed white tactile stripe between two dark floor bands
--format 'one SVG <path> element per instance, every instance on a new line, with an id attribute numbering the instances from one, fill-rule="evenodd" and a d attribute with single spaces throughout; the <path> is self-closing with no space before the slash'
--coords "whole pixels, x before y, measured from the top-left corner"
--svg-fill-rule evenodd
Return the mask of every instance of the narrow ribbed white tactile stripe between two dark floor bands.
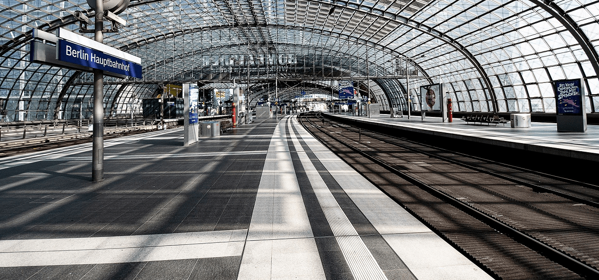
<path id="1" fill-rule="evenodd" d="M 291 124 L 288 120 L 289 133 L 295 149 L 297 150 L 299 160 L 304 167 L 304 171 L 310 180 L 310 184 L 314 188 L 314 193 L 325 213 L 326 220 L 331 226 L 331 230 L 335 235 L 335 239 L 341 248 L 343 257 L 347 261 L 349 269 L 356 280 L 380 279 L 386 280 L 387 276 L 380 268 L 374 256 L 364 244 L 364 241 L 359 237 L 358 232 L 349 221 L 341 206 L 335 200 L 331 190 L 326 186 L 320 174 L 312 164 L 310 158 L 305 153 L 304 148 L 299 143 L 298 138 L 292 130 L 292 125 L 299 126 L 295 121 Z"/>

